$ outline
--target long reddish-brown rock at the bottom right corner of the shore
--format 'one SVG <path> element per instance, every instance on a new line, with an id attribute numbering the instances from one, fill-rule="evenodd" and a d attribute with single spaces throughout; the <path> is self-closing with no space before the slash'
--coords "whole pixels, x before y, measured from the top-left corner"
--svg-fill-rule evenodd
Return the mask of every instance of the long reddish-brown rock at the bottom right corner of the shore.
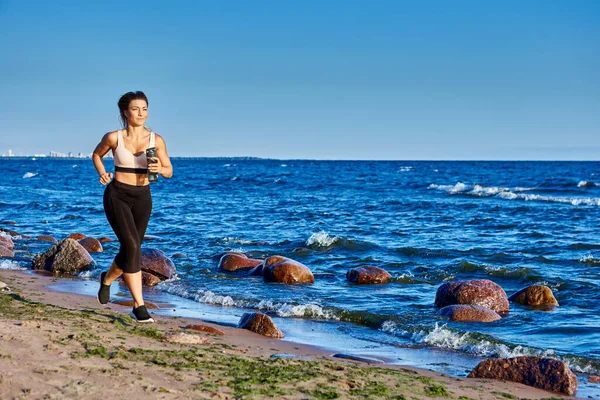
<path id="1" fill-rule="evenodd" d="M 518 382 L 554 393 L 574 396 L 577 377 L 562 361 L 542 357 L 496 358 L 479 363 L 469 378 Z"/>

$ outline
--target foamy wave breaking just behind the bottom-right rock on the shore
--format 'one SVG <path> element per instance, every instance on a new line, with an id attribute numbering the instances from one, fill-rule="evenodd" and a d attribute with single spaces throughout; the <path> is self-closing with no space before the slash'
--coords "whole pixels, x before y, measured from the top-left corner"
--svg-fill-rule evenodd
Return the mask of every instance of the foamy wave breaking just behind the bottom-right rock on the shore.
<path id="1" fill-rule="evenodd" d="M 381 331 L 395 336 L 408 338 L 415 343 L 442 349 L 462 351 L 485 358 L 513 358 L 520 356 L 536 356 L 554 358 L 566 362 L 576 372 L 597 374 L 600 363 L 581 356 L 558 355 L 554 350 L 537 349 L 533 347 L 503 343 L 491 336 L 474 333 L 459 332 L 450 329 L 446 324 L 437 322 L 433 329 L 421 329 L 414 332 L 403 330 L 394 321 L 385 321 Z"/>

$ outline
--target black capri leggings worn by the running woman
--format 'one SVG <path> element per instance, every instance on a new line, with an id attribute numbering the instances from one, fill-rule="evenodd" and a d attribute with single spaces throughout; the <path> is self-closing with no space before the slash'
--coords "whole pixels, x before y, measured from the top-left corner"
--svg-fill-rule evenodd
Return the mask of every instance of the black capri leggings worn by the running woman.
<path id="1" fill-rule="evenodd" d="M 104 212 L 121 247 L 115 257 L 123 272 L 139 272 L 142 241 L 152 212 L 150 185 L 128 185 L 113 179 L 104 190 Z"/>

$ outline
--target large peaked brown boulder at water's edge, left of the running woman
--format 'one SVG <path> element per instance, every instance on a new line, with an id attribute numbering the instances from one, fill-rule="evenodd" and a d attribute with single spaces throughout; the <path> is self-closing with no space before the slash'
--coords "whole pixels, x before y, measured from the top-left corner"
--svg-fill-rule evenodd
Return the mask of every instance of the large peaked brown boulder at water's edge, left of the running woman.
<path id="1" fill-rule="evenodd" d="M 56 243 L 45 253 L 33 258 L 33 269 L 45 269 L 54 273 L 72 274 L 86 269 L 94 259 L 90 253 L 76 240 L 63 239 Z"/>

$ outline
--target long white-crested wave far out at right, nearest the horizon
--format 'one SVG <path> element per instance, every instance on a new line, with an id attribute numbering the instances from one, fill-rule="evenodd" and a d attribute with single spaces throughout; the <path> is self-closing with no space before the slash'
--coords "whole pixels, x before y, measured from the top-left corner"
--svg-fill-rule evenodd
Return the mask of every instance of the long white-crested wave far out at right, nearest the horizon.
<path id="1" fill-rule="evenodd" d="M 503 187 L 486 187 L 482 185 L 467 185 L 458 182 L 455 185 L 437 185 L 430 184 L 427 189 L 435 189 L 447 192 L 449 194 L 464 194 L 476 197 L 493 197 L 497 196 L 505 200 L 524 200 L 524 201 L 540 201 L 552 203 L 564 203 L 574 206 L 600 206 L 600 198 L 597 197 L 560 197 L 560 196 L 545 196 L 539 194 L 521 193 L 525 191 L 535 190 L 534 188 L 503 188 Z"/>

